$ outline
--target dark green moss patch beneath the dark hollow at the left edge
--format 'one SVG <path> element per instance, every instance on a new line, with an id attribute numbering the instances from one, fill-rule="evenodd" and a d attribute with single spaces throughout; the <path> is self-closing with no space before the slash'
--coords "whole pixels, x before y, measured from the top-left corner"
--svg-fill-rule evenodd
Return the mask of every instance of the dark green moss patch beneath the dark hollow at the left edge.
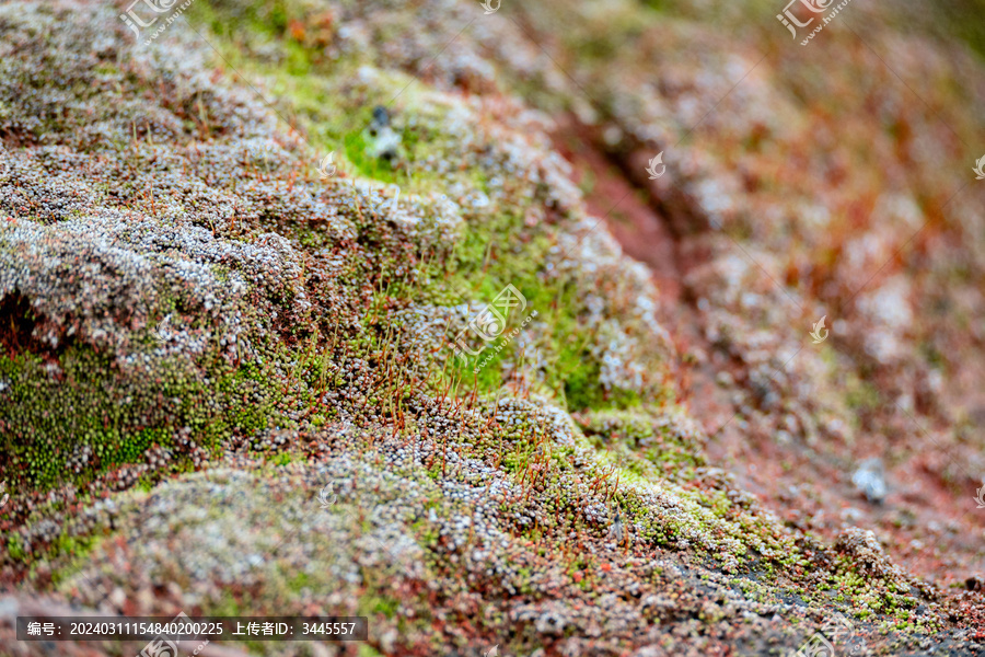
<path id="1" fill-rule="evenodd" d="M 235 369 L 213 364 L 211 387 L 184 359 L 165 360 L 150 374 L 131 373 L 89 347 L 70 347 L 58 362 L 53 376 L 30 353 L 0 356 L 0 377 L 11 382 L 0 477 L 22 489 L 66 483 L 84 488 L 113 468 L 142 462 L 154 445 L 173 448 L 183 428 L 199 446 L 216 447 L 233 434 L 266 427 L 270 408 L 255 397 L 278 395 L 254 362 Z M 173 472 L 186 468 L 181 459 L 170 465 Z"/>

